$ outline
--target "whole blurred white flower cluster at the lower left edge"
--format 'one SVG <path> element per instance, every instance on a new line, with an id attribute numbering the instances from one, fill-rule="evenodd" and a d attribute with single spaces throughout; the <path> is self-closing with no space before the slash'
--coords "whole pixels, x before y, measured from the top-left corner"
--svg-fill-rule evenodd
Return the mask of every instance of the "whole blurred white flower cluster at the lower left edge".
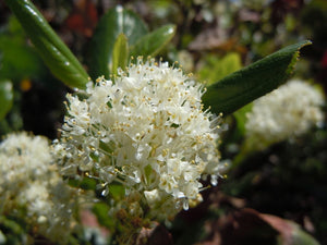
<path id="1" fill-rule="evenodd" d="M 27 133 L 8 135 L 0 144 L 0 213 L 24 217 L 34 232 L 59 244 L 70 231 L 73 193 L 62 182 L 48 140 Z"/>

